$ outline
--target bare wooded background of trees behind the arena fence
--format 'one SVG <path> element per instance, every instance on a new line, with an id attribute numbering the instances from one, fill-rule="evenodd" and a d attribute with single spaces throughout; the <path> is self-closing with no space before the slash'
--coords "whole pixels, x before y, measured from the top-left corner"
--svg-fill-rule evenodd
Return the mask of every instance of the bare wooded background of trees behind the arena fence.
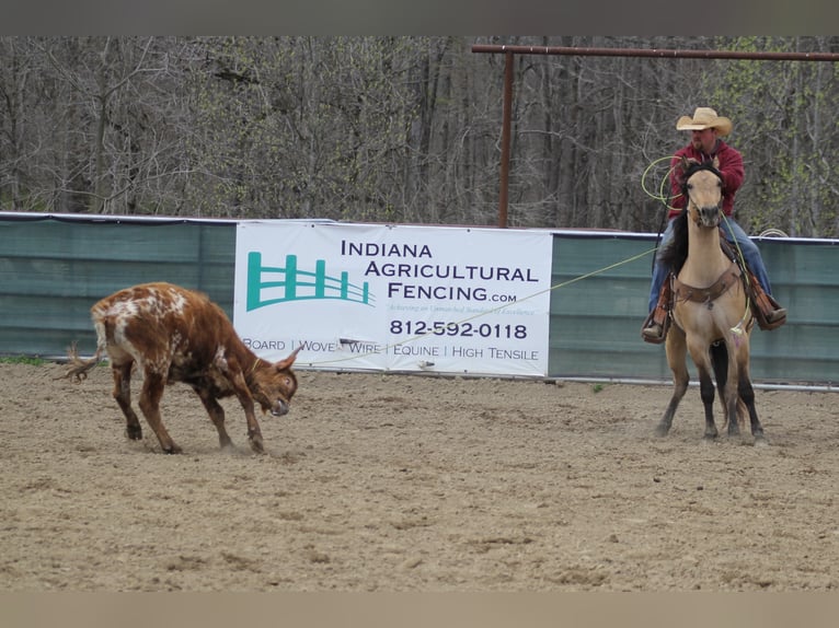
<path id="1" fill-rule="evenodd" d="M 473 44 L 839 51 L 837 36 L 3 36 L 0 209 L 496 224 L 504 57 Z M 744 229 L 837 237 L 838 70 L 518 55 L 508 223 L 657 231 L 653 196 L 689 139 L 676 120 L 711 106 L 746 161 Z"/>

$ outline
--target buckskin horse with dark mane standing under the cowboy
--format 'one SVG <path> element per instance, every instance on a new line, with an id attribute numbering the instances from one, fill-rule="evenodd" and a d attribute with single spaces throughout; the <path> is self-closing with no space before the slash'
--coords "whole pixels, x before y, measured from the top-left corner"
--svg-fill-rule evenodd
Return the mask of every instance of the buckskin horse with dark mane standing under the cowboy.
<path id="1" fill-rule="evenodd" d="M 705 440 L 717 437 L 714 423 L 714 383 L 725 409 L 728 435 L 739 435 L 738 417 L 748 411 L 755 444 L 766 444 L 755 408 L 749 376 L 749 336 L 754 318 L 737 263 L 722 247 L 720 223 L 723 182 L 717 164 L 682 160 L 682 194 L 688 202 L 674 223 L 674 237 L 663 252 L 673 269 L 673 325 L 667 335 L 667 363 L 674 393 L 656 434 L 670 430 L 679 402 L 690 381 L 687 352 L 699 372 L 705 410 Z M 679 166 L 677 166 L 679 167 Z"/>

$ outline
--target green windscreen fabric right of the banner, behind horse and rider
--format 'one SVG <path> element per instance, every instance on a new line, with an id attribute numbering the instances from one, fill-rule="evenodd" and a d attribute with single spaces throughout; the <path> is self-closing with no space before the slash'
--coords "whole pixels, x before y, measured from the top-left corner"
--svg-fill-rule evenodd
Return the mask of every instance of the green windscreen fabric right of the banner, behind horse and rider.
<path id="1" fill-rule="evenodd" d="M 757 244 L 772 281 L 772 293 L 789 310 L 789 316 L 785 325 L 772 332 L 755 327 L 752 380 L 836 384 L 837 242 L 758 239 Z M 654 245 L 655 239 L 646 235 L 554 236 L 550 376 L 670 379 L 664 345 L 641 339 Z M 690 359 L 689 369 L 696 380 Z"/>

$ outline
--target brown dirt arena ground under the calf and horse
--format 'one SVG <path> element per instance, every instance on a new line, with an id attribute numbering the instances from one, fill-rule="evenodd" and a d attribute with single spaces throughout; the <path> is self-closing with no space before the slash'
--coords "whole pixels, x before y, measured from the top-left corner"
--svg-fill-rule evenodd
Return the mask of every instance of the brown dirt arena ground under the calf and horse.
<path id="1" fill-rule="evenodd" d="M 832 591 L 835 393 L 758 391 L 702 442 L 691 388 L 298 371 L 266 455 L 168 388 L 128 441 L 106 367 L 0 363 L 0 591 Z"/>

